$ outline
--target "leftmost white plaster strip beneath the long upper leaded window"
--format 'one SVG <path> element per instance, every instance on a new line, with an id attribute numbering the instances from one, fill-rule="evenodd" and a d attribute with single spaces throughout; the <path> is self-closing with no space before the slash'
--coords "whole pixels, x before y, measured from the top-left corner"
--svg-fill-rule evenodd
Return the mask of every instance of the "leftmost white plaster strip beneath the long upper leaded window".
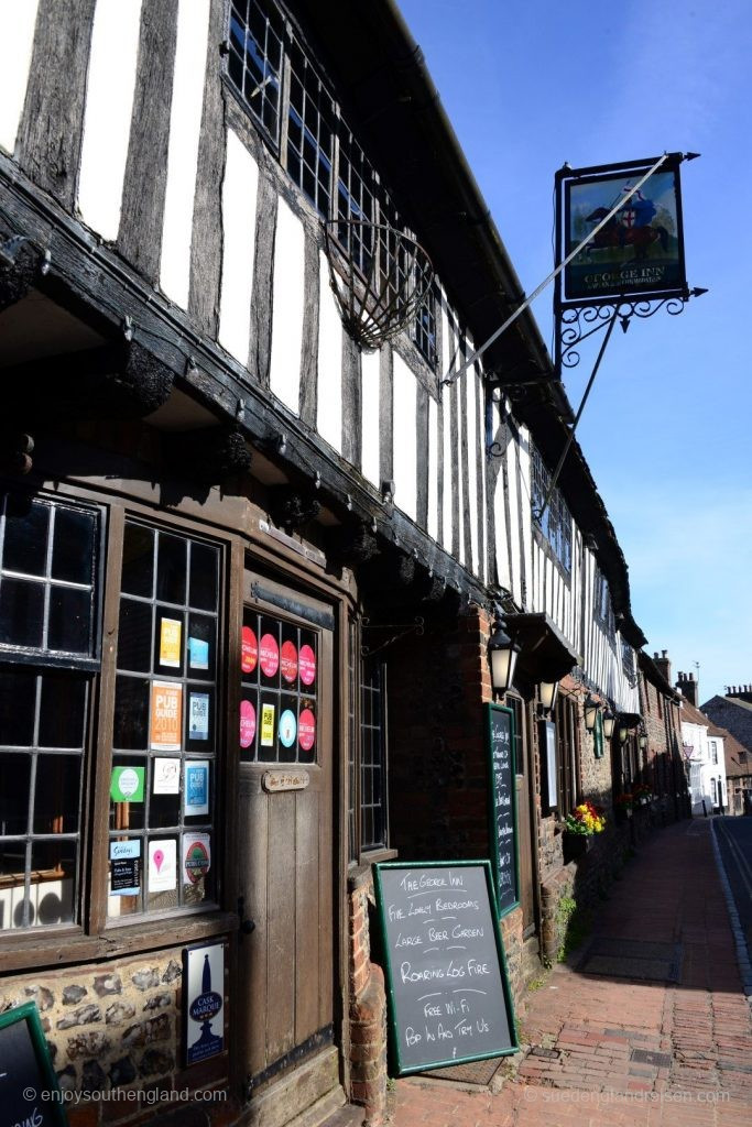
<path id="1" fill-rule="evenodd" d="M 222 285 L 219 341 L 248 364 L 250 301 L 254 285 L 258 165 L 236 133 L 227 137 L 222 184 Z"/>

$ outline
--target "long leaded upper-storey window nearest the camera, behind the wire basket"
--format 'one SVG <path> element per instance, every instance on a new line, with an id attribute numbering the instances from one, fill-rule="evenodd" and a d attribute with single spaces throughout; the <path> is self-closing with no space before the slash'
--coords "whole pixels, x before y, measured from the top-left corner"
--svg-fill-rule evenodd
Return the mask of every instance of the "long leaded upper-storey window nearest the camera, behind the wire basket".
<path id="1" fill-rule="evenodd" d="M 375 283 L 388 302 L 409 293 L 414 278 L 396 232 L 412 233 L 274 0 L 232 0 L 228 76 L 290 178 L 331 224 L 364 284 Z M 409 337 L 435 369 L 433 290 L 416 311 Z"/>

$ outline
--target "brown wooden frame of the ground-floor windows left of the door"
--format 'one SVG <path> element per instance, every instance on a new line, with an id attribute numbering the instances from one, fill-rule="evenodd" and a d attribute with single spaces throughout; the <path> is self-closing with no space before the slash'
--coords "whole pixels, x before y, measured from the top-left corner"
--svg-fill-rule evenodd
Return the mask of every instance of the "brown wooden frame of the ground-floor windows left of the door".
<path id="1" fill-rule="evenodd" d="M 154 942 L 169 942 L 175 933 L 175 923 L 180 920 L 185 941 L 219 934 L 235 926 L 235 917 L 222 911 L 222 872 L 224 857 L 223 818 L 225 814 L 224 770 L 216 775 L 214 788 L 214 834 L 212 838 L 212 869 L 216 878 L 215 894 L 195 907 L 175 907 L 163 912 L 145 912 L 121 919 L 107 919 L 107 870 L 108 859 L 104 846 L 91 851 L 91 842 L 106 842 L 107 808 L 109 804 L 112 767 L 112 722 L 115 698 L 115 645 L 117 641 L 118 604 L 122 580 L 122 548 L 125 521 L 133 518 L 166 533 L 187 536 L 194 541 L 209 543 L 219 549 L 218 580 L 218 682 L 215 692 L 218 762 L 223 758 L 227 745 L 227 703 L 230 699 L 229 682 L 224 668 L 227 662 L 227 636 L 231 627 L 228 618 L 232 609 L 238 610 L 237 593 L 229 584 L 231 552 L 236 551 L 238 538 L 231 530 L 221 527 L 219 521 L 195 520 L 189 514 L 175 513 L 154 517 L 153 507 L 135 497 L 106 496 L 96 487 L 92 489 L 63 483 L 51 495 L 50 489 L 39 483 L 34 495 L 72 508 L 95 511 L 100 515 L 100 538 L 97 540 L 97 625 L 94 630 L 100 660 L 90 658 L 50 663 L 55 675 L 81 675 L 88 683 L 89 713 L 87 717 L 82 762 L 82 799 L 79 832 L 82 841 L 77 863 L 73 894 L 73 920 L 43 926 L 3 929 L 0 931 L 0 952 L 11 953 L 15 966 L 34 967 L 50 962 L 56 957 L 55 950 L 65 942 L 76 958 L 80 948 L 86 958 L 106 958 L 113 938 L 129 930 L 129 943 L 134 951 L 147 949 Z M 9 659 L 10 658 L 10 659 Z M 14 660 L 14 655 L 3 654 L 0 667 L 27 668 L 34 665 L 28 655 Z M 36 665 L 39 662 L 36 660 Z M 231 696 L 231 694 L 230 694 Z M 186 702 L 187 709 L 187 702 Z M 46 751 L 46 749 L 45 749 Z M 62 749 L 63 753 L 67 748 Z M 96 762 L 96 773 L 91 765 Z M 232 773 L 232 763 L 223 760 L 223 769 Z M 182 799 L 180 799 L 182 800 Z M 178 855 L 178 879 L 182 858 Z M 145 878 L 144 878 L 145 879 Z M 145 931 L 143 929 L 147 929 Z M 91 953 L 95 952 L 95 953 Z"/>

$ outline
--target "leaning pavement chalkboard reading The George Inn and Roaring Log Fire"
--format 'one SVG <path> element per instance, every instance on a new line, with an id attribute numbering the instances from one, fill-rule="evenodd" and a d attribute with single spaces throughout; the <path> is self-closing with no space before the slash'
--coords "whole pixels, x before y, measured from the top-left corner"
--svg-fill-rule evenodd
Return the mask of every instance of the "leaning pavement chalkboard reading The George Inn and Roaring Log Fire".
<path id="1" fill-rule="evenodd" d="M 516 1050 L 488 861 L 374 866 L 399 1075 Z"/>

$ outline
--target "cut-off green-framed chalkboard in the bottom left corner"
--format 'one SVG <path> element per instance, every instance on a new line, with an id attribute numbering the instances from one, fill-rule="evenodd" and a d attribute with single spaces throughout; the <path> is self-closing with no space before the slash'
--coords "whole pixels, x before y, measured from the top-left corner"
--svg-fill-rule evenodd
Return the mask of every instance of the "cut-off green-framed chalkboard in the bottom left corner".
<path id="1" fill-rule="evenodd" d="M 68 1127 L 34 1002 L 0 1014 L 0 1127 Z"/>

